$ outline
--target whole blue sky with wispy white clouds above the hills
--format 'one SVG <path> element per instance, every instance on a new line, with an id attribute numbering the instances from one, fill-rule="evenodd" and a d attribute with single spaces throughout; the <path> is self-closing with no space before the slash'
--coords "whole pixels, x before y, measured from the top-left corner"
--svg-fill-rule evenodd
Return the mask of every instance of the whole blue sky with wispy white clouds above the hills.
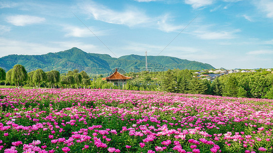
<path id="1" fill-rule="evenodd" d="M 273 0 L 0 1 L 0 57 L 72 47 L 112 57 L 161 52 L 215 68 L 273 68 Z"/>

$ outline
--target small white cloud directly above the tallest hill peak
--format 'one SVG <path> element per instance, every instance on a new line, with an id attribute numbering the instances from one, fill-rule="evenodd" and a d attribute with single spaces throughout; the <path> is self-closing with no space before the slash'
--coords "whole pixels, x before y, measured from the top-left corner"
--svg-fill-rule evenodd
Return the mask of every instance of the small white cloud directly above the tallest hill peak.
<path id="1" fill-rule="evenodd" d="M 98 31 L 94 27 L 88 27 L 94 34 L 97 36 L 106 35 L 108 31 Z M 73 27 L 73 26 L 66 26 L 65 30 L 68 31 L 68 33 L 65 35 L 67 37 L 93 37 L 93 33 L 89 31 L 86 27 L 79 28 L 79 27 Z"/>

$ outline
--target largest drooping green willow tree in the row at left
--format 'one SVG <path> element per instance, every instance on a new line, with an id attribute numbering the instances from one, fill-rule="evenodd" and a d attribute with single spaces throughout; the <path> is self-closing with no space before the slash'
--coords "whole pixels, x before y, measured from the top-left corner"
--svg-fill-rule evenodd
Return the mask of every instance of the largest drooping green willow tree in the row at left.
<path id="1" fill-rule="evenodd" d="M 19 89 L 19 83 L 27 81 L 28 73 L 23 65 L 17 64 L 14 65 L 11 75 L 11 80 L 15 82 L 15 87 Z"/>

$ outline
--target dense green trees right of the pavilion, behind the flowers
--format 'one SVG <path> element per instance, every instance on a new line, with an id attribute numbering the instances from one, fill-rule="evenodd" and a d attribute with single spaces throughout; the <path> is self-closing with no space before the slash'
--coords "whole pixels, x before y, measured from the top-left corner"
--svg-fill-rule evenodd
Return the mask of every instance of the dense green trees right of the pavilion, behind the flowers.
<path id="1" fill-rule="evenodd" d="M 138 88 L 147 91 L 273 99 L 273 74 L 267 71 L 233 73 L 216 77 L 213 81 L 197 78 L 193 71 L 187 69 L 156 73 L 157 75 L 149 79 L 147 74 L 142 73 L 141 77 L 136 77 L 131 82 L 138 80 L 143 83 L 129 82 L 127 85 L 130 86 L 130 90 Z"/>

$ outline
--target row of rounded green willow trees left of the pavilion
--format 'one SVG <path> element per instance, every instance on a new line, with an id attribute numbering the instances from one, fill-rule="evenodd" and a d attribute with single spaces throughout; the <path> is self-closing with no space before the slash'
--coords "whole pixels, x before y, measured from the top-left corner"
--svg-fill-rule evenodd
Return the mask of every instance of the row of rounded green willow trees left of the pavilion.
<path id="1" fill-rule="evenodd" d="M 80 85 L 85 87 L 91 85 L 90 77 L 85 71 L 79 72 L 78 70 L 73 70 L 65 74 L 60 74 L 56 70 L 44 72 L 42 69 L 37 69 L 27 73 L 25 67 L 19 64 L 15 65 L 7 73 L 0 68 L 0 81 L 4 81 L 5 85 L 15 85 L 16 88 L 23 85 L 33 88 L 40 88 L 41 85 L 49 88 L 60 88 L 62 86 L 66 86 L 66 88 L 79 88 Z"/>

